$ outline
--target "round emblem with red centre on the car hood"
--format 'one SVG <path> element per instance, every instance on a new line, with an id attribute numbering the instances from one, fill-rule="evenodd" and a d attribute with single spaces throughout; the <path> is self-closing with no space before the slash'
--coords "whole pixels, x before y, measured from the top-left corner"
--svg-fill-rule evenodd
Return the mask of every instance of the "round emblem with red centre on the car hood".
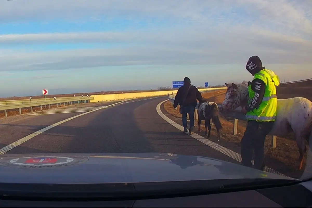
<path id="1" fill-rule="evenodd" d="M 20 157 L 14 158 L 0 165 L 10 167 L 60 167 L 68 165 L 76 165 L 87 162 L 87 157 L 60 157 L 60 156 L 39 156 L 39 157 Z"/>

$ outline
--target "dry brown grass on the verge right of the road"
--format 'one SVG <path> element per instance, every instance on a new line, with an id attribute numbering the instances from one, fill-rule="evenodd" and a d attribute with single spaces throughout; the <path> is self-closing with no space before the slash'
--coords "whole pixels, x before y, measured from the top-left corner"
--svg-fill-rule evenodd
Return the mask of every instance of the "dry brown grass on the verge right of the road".
<path id="1" fill-rule="evenodd" d="M 305 90 L 303 90 L 305 89 Z M 289 86 L 281 85 L 277 88 L 277 96 L 279 99 L 291 98 L 291 97 L 306 97 L 312 100 L 312 82 L 310 83 L 295 83 Z M 288 93 L 288 94 L 287 94 Z M 225 90 L 218 90 L 213 92 L 208 92 L 202 94 L 204 98 L 208 99 L 211 102 L 216 102 L 217 104 L 221 104 L 225 97 Z M 179 114 L 178 110 L 174 110 L 171 106 L 170 101 L 165 102 L 164 108 L 166 111 L 173 115 L 174 117 L 181 118 L 181 114 Z M 233 135 L 233 119 L 225 118 L 222 115 L 220 116 L 220 121 L 222 123 L 222 133 L 221 133 L 221 141 L 225 140 L 232 145 L 229 145 L 228 148 L 236 146 L 236 148 L 232 148 L 233 151 L 238 153 L 240 149 L 240 142 L 242 135 L 246 129 L 246 121 L 239 120 L 237 135 Z M 197 123 L 195 122 L 196 129 L 198 128 Z M 204 126 L 201 127 L 202 131 L 204 131 Z M 195 131 L 196 132 L 196 131 Z M 217 135 L 216 129 L 212 126 L 212 135 Z M 276 148 L 273 149 L 271 145 L 272 141 L 270 137 L 266 139 L 265 142 L 265 163 L 267 166 L 284 173 L 290 177 L 300 177 L 303 171 L 298 171 L 298 158 L 299 151 L 297 144 L 295 142 L 294 134 L 287 135 L 285 138 L 277 137 Z M 305 158 L 306 160 L 306 158 Z M 304 160 L 304 167 L 305 167 Z M 304 168 L 303 168 L 304 169 Z"/>

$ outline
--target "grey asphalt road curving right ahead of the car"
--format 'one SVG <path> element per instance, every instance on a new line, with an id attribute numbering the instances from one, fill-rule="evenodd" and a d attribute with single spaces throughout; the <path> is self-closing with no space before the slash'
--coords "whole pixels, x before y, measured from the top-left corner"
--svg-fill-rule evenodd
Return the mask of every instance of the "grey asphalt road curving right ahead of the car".
<path id="1" fill-rule="evenodd" d="M 161 118 L 156 106 L 166 99 L 168 98 L 154 97 L 132 99 L 122 103 L 117 101 L 79 104 L 0 119 L 0 152 L 166 152 L 206 156 L 238 163 L 182 133 Z M 165 112 L 162 106 L 161 109 Z M 80 114 L 84 115 L 62 123 L 65 119 Z M 170 115 L 167 116 L 170 118 Z M 51 126 L 57 122 L 60 123 Z M 34 134 L 47 127 L 48 130 Z"/>

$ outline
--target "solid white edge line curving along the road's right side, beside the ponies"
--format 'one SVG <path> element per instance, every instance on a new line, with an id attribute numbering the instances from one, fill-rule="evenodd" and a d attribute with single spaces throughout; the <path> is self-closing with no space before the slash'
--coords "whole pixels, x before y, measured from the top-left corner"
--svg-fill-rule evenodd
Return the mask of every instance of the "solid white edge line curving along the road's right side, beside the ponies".
<path id="1" fill-rule="evenodd" d="M 173 125 L 175 128 L 177 128 L 177 129 L 179 129 L 180 131 L 183 132 L 183 126 L 181 126 L 180 124 L 178 124 L 178 123 L 174 122 L 173 120 L 169 119 L 169 118 L 168 118 L 165 114 L 163 114 L 163 112 L 161 111 L 160 106 L 161 106 L 161 104 L 163 104 L 163 103 L 166 102 L 166 101 L 168 101 L 168 99 L 167 99 L 167 100 L 164 100 L 164 101 L 162 101 L 162 102 L 160 102 L 160 103 L 158 103 L 158 105 L 157 105 L 157 107 L 156 107 L 156 111 L 157 111 L 158 115 L 159 115 L 161 118 L 163 118 L 165 121 L 167 121 L 168 123 L 170 123 L 171 125 Z M 232 151 L 232 150 L 230 150 L 230 149 L 228 149 L 228 148 L 226 148 L 226 147 L 223 147 L 223 146 L 221 146 L 221 145 L 218 144 L 218 143 L 212 142 L 211 140 L 209 140 L 209 139 L 207 139 L 207 138 L 204 138 L 204 137 L 198 135 L 197 133 L 193 133 L 192 135 L 189 135 L 189 136 L 191 136 L 191 137 L 193 137 L 194 139 L 197 139 L 198 141 L 200 141 L 200 142 L 206 144 L 207 146 L 209 146 L 209 147 L 211 147 L 211 148 L 213 148 L 213 149 L 215 149 L 215 150 L 217 150 L 217 151 L 219 151 L 219 152 L 225 154 L 226 156 L 231 157 L 231 158 L 233 158 L 234 160 L 236 160 L 236 161 L 238 161 L 238 162 L 241 162 L 241 154 L 238 154 L 237 152 L 234 152 L 234 151 Z M 269 168 L 269 167 L 266 167 L 266 166 L 264 167 L 264 171 L 270 172 L 270 173 L 275 173 L 275 174 L 277 174 L 277 175 L 285 176 L 284 174 L 282 174 L 282 173 L 280 173 L 280 172 L 278 172 L 278 171 L 275 171 L 275 170 L 273 170 L 272 168 Z M 286 177 L 288 177 L 288 176 L 286 176 Z"/>

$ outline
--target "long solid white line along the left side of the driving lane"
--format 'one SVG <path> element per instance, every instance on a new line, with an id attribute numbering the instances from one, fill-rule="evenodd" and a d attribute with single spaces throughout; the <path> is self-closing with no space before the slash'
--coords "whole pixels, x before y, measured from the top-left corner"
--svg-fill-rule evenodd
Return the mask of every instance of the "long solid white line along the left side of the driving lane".
<path id="1" fill-rule="evenodd" d="M 127 101 L 127 100 L 124 100 L 124 101 Z M 124 102 L 124 101 L 121 101 L 121 102 L 119 102 L 119 103 L 122 103 L 122 102 Z M 116 103 L 116 104 L 118 104 L 118 103 Z M 111 105 L 114 105 L 114 104 L 111 104 Z M 47 130 L 53 128 L 53 127 L 56 127 L 56 126 L 58 126 L 58 125 L 60 125 L 60 124 L 62 124 L 62 123 L 65 123 L 65 122 L 67 122 L 67 121 L 70 121 L 70 120 L 72 120 L 72 119 L 76 119 L 76 118 L 78 118 L 78 117 L 80 117 L 80 116 L 83 116 L 83 115 L 85 115 L 85 114 L 90 114 L 90 113 L 93 113 L 93 112 L 95 112 L 95 111 L 97 111 L 97 110 L 101 110 L 101 109 L 108 108 L 108 107 L 110 107 L 111 105 L 107 105 L 107 106 L 104 106 L 104 107 L 99 108 L 99 109 L 95 109 L 95 110 L 92 110 L 92 111 L 88 111 L 88 112 L 85 112 L 85 113 L 83 113 L 83 114 L 79 114 L 79 115 L 70 117 L 70 118 L 68 118 L 68 119 L 59 121 L 59 122 L 57 122 L 57 123 L 54 123 L 54 124 L 52 124 L 52 125 L 50 125 L 50 126 L 48 126 L 48 127 L 46 127 L 46 128 L 42 128 L 42 129 L 40 129 L 39 131 L 36 131 L 36 132 L 34 132 L 34 133 L 32 133 L 32 134 L 29 134 L 28 136 L 23 137 L 23 138 L 17 140 L 16 142 L 13 142 L 12 144 L 9 144 L 9 145 L 7 145 L 7 146 L 1 148 L 1 149 L 0 149 L 0 155 L 3 155 L 4 153 L 10 151 L 11 149 L 16 148 L 18 145 L 21 145 L 22 143 L 24 143 L 24 142 L 30 140 L 31 138 L 34 138 L 35 136 L 37 136 L 37 135 L 39 135 L 39 134 L 41 134 L 41 133 L 43 133 L 43 132 L 45 132 L 45 131 L 47 131 Z"/>

